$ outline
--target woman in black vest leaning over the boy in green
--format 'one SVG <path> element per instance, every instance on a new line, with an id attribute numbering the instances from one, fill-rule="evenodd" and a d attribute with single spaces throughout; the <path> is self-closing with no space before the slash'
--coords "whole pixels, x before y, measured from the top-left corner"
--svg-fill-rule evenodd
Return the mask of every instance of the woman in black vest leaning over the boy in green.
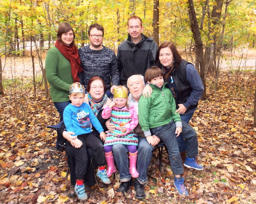
<path id="1" fill-rule="evenodd" d="M 155 66 L 164 71 L 164 79 L 168 82 L 168 87 L 173 93 L 176 101 L 176 112 L 180 114 L 183 121 L 189 122 L 198 101 L 204 91 L 202 80 L 195 67 L 188 61 L 181 58 L 177 48 L 171 42 L 162 43 L 156 52 Z M 152 91 L 147 86 L 143 95 Z M 152 90 L 152 89 L 151 89 Z M 182 137 L 177 137 L 180 156 L 183 162 L 186 158 L 185 143 Z M 187 177 L 187 169 L 184 167 L 183 177 Z"/>

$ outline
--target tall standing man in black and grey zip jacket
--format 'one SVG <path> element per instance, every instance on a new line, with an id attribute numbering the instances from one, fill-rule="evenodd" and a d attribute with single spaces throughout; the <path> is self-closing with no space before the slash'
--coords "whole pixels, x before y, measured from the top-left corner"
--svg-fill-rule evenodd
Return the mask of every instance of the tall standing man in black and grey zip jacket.
<path id="1" fill-rule="evenodd" d="M 130 17 L 127 25 L 128 38 L 118 46 L 117 51 L 121 85 L 126 85 L 127 79 L 134 74 L 144 76 L 146 70 L 154 65 L 158 48 L 153 37 L 149 38 L 142 34 L 143 26 L 140 17 Z"/>

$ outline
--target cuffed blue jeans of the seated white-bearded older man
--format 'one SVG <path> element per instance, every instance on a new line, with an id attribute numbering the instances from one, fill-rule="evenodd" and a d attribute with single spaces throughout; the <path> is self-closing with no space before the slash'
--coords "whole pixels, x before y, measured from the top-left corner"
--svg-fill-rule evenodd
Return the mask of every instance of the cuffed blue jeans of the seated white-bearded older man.
<path id="1" fill-rule="evenodd" d="M 137 159 L 137 172 L 139 177 L 137 180 L 141 183 L 147 183 L 147 170 L 152 158 L 152 145 L 148 144 L 145 137 L 137 136 L 138 138 L 138 159 Z M 113 154 L 115 162 L 120 172 L 120 181 L 126 182 L 131 180 L 129 173 L 129 159 L 127 153 L 129 152 L 126 145 L 115 144 L 113 145 Z"/>

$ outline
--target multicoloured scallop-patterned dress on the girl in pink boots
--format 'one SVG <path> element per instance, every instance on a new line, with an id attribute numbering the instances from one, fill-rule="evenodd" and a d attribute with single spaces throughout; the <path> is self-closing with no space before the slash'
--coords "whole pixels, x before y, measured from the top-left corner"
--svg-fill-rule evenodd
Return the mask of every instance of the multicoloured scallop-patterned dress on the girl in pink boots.
<path id="1" fill-rule="evenodd" d="M 111 119 L 112 123 L 115 124 L 115 130 L 109 130 L 103 146 L 114 144 L 138 146 L 138 139 L 134 137 L 133 130 L 129 133 L 122 133 L 120 131 L 120 128 L 132 120 L 130 111 L 126 107 L 122 109 L 113 109 L 111 111 Z"/>

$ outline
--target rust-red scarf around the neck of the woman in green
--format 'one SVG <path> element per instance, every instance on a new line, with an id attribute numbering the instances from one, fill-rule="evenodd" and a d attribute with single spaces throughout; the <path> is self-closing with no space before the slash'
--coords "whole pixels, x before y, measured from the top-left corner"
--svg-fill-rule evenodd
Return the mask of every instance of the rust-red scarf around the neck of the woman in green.
<path id="1" fill-rule="evenodd" d="M 70 45 L 69 47 L 65 44 L 60 43 L 58 40 L 55 43 L 55 47 L 61 52 L 61 54 L 70 61 L 71 74 L 74 82 L 80 82 L 77 74 L 82 72 L 81 61 L 78 55 L 77 47 Z"/>

